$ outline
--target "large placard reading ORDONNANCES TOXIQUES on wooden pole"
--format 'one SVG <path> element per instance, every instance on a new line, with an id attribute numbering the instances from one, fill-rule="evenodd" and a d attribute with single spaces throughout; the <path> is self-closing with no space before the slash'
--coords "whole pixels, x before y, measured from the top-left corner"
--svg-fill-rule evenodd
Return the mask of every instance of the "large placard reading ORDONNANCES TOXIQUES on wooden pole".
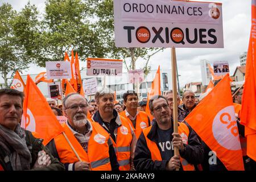
<path id="1" fill-rule="evenodd" d="M 223 48 L 222 4 L 114 0 L 115 46 Z"/>

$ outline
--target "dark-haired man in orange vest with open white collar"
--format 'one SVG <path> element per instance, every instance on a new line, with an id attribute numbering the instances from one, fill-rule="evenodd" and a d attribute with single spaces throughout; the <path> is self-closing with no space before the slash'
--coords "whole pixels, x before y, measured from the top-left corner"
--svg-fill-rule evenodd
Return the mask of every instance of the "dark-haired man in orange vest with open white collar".
<path id="1" fill-rule="evenodd" d="M 138 94 L 134 90 L 128 90 L 123 94 L 123 103 L 126 109 L 119 114 L 130 122 L 136 137 L 139 138 L 142 129 L 150 126 L 150 118 L 144 111 L 138 111 Z"/>

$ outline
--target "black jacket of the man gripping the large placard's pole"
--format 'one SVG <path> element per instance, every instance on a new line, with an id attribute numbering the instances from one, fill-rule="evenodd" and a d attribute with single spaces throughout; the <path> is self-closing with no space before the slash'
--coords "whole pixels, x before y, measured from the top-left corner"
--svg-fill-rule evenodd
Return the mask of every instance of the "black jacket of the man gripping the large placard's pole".
<path id="1" fill-rule="evenodd" d="M 154 121 L 155 119 L 153 119 Z M 192 128 L 185 123 L 188 126 L 189 129 L 189 135 L 188 135 L 188 145 L 184 144 L 186 147 L 186 150 L 184 152 L 180 152 L 181 158 L 184 158 L 188 161 L 188 163 L 191 164 L 200 164 L 204 160 L 204 151 L 203 147 L 201 146 L 201 143 L 199 142 L 199 139 L 196 137 L 195 131 L 192 130 Z M 173 125 L 172 125 L 173 126 Z M 157 123 L 154 121 L 152 128 L 150 132 L 147 135 L 147 138 L 156 142 L 157 139 Z M 156 142 L 156 145 L 158 146 L 160 150 L 159 144 Z M 171 156 L 172 157 L 172 156 Z M 134 166 L 137 171 L 159 171 L 159 170 L 166 170 L 166 164 L 168 163 L 168 160 L 153 160 L 151 159 L 151 153 L 150 150 L 147 147 L 146 138 L 143 133 L 141 133 L 141 136 L 138 139 L 136 150 L 135 150 L 135 156 L 134 156 Z"/>

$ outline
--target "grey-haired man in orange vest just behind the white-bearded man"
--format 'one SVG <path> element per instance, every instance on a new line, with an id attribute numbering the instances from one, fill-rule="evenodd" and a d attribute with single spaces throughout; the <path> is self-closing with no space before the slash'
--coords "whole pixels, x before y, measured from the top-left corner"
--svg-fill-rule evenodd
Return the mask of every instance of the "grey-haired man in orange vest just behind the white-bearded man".
<path id="1" fill-rule="evenodd" d="M 96 93 L 98 111 L 92 120 L 98 122 L 113 139 L 117 160 L 122 171 L 133 170 L 133 158 L 137 138 L 129 121 L 114 109 L 114 93 L 102 89 Z"/>

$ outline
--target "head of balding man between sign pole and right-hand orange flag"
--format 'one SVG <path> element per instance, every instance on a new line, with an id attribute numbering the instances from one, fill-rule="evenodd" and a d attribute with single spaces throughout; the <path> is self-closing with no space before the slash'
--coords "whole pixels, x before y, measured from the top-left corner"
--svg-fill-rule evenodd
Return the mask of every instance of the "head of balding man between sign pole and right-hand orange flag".
<path id="1" fill-rule="evenodd" d="M 181 108 L 187 113 L 191 113 L 191 111 L 196 107 L 196 97 L 195 93 L 191 90 L 186 90 L 182 96 L 184 104 L 181 105 Z"/>

